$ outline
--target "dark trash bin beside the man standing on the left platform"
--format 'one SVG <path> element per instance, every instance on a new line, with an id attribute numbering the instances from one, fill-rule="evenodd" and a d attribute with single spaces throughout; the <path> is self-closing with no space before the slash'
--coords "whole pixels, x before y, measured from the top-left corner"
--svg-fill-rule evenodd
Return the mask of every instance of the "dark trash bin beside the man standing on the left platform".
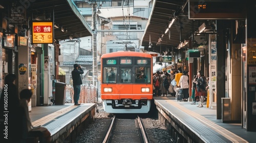
<path id="1" fill-rule="evenodd" d="M 55 105 L 64 105 L 66 100 L 66 83 L 55 83 Z"/>

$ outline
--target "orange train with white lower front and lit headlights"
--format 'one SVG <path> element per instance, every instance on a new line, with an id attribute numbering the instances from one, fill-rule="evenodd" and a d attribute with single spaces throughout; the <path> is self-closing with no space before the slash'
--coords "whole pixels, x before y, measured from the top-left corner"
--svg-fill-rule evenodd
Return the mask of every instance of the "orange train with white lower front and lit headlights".
<path id="1" fill-rule="evenodd" d="M 101 99 L 108 113 L 147 113 L 153 99 L 153 62 L 146 53 L 101 56 Z"/>

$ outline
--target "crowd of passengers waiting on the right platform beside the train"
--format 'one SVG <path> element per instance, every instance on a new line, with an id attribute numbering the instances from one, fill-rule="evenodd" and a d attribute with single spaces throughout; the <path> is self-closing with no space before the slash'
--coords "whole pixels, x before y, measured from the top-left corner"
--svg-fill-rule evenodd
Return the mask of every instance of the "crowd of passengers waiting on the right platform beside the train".
<path id="1" fill-rule="evenodd" d="M 175 70 L 163 70 L 153 73 L 153 96 L 166 97 L 168 94 L 174 96 L 178 101 L 187 102 L 189 98 L 189 73 L 186 70 L 182 71 L 179 67 Z M 201 71 L 198 71 L 197 75 L 193 76 L 192 91 L 190 104 L 196 104 L 199 101 L 197 107 L 203 107 L 203 102 L 207 98 L 208 81 Z M 207 78 L 208 80 L 208 78 Z"/>

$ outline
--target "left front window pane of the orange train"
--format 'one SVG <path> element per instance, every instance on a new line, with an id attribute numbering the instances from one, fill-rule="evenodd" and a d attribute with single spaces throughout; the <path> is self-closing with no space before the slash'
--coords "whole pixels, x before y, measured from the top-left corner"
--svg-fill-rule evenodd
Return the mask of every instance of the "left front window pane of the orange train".
<path id="1" fill-rule="evenodd" d="M 116 83 L 116 67 L 104 67 L 103 83 Z"/>

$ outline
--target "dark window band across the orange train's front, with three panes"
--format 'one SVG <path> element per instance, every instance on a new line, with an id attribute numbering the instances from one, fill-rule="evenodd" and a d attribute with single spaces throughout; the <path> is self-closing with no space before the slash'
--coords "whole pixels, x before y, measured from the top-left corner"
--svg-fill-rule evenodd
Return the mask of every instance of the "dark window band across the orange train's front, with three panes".
<path id="1" fill-rule="evenodd" d="M 138 62 L 140 61 L 139 59 L 135 58 L 134 60 L 137 60 L 137 62 L 122 61 L 121 59 L 120 62 L 116 62 L 119 59 L 104 59 L 102 64 L 102 83 L 151 83 L 151 59 L 143 59 L 143 64 Z M 131 61 L 134 60 L 131 58 Z"/>

